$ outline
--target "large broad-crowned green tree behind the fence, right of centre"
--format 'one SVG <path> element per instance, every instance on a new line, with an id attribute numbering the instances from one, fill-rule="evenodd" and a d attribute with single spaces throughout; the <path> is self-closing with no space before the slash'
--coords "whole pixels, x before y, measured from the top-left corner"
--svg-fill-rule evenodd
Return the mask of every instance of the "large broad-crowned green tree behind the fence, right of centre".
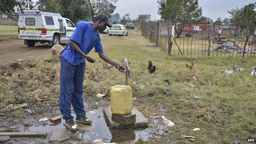
<path id="1" fill-rule="evenodd" d="M 185 24 L 195 24 L 203 21 L 202 9 L 198 6 L 198 0 L 158 0 L 158 14 L 165 21 L 181 23 L 176 27 L 177 38 L 181 35 Z"/>

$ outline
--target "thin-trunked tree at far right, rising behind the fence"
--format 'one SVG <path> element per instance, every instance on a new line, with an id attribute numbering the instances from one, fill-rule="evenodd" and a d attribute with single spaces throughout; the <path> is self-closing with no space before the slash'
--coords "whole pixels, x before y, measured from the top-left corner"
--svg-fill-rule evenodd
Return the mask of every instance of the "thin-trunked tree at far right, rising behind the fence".
<path id="1" fill-rule="evenodd" d="M 242 57 L 245 57 L 247 42 L 249 41 L 249 37 L 251 37 L 255 31 L 255 25 L 252 22 L 256 20 L 256 11 L 254 9 L 256 9 L 256 3 L 250 3 L 240 9 L 237 7 L 236 9 L 228 11 L 228 13 L 231 14 L 231 24 L 235 25 L 240 30 L 243 30 L 246 37 Z"/>

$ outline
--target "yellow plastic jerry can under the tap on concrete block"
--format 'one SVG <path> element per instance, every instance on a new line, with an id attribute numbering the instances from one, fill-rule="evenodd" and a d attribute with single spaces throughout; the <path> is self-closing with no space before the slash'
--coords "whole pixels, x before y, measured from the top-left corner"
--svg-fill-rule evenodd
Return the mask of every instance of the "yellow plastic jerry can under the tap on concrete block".
<path id="1" fill-rule="evenodd" d="M 110 109 L 113 114 L 129 114 L 133 109 L 133 91 L 130 86 L 116 85 L 110 88 Z"/>

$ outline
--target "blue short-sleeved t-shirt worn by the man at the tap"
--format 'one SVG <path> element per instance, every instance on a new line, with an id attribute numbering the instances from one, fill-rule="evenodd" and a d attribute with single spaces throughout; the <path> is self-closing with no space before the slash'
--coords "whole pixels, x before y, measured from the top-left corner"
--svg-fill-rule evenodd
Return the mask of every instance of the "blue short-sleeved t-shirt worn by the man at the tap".
<path id="1" fill-rule="evenodd" d="M 85 55 L 87 55 L 94 47 L 95 53 L 103 52 L 100 35 L 93 29 L 89 22 L 80 21 L 70 39 L 78 44 L 80 50 L 82 50 Z M 73 65 L 85 62 L 85 57 L 76 52 L 69 44 L 61 54 L 62 57 Z"/>

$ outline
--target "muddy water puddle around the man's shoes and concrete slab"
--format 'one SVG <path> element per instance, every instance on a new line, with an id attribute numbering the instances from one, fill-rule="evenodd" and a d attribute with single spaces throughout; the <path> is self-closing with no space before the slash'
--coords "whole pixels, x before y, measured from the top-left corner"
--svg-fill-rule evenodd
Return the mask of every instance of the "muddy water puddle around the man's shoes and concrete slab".
<path id="1" fill-rule="evenodd" d="M 75 119 L 75 114 L 72 114 Z M 142 137 L 144 140 L 152 137 L 151 134 L 146 133 L 144 129 L 109 129 L 105 119 L 103 117 L 103 112 L 101 110 L 94 110 L 86 113 L 89 119 L 92 119 L 93 123 L 91 125 L 85 125 L 81 123 L 77 123 L 79 126 L 79 132 L 71 133 L 71 140 L 73 142 L 84 140 L 84 142 L 91 141 L 94 139 L 102 139 L 103 142 L 115 142 L 118 144 L 133 144 L 139 137 Z M 34 123 L 33 126 L 25 127 L 22 126 L 19 128 L 21 132 L 27 131 L 39 131 L 39 132 L 47 132 L 50 133 L 54 129 L 65 128 L 64 120 L 55 126 L 48 125 L 48 121 L 41 121 Z M 72 138 L 73 137 L 73 138 Z"/>

